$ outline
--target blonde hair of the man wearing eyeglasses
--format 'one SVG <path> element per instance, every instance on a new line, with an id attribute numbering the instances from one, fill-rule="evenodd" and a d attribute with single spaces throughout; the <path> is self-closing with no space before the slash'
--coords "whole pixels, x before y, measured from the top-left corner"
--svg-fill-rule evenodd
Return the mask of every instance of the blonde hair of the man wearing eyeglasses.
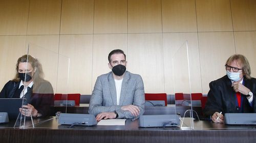
<path id="1" fill-rule="evenodd" d="M 232 62 L 236 61 L 243 69 L 243 74 L 247 79 L 251 78 L 251 68 L 248 60 L 242 54 L 233 54 L 231 55 L 226 62 L 226 65 L 230 65 Z"/>

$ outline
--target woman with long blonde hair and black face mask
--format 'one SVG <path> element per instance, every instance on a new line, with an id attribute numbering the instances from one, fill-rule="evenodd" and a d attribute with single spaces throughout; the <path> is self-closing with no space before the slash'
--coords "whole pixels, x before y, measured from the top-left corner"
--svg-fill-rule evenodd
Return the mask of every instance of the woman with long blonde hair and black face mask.
<path id="1" fill-rule="evenodd" d="M 28 103 L 19 108 L 23 115 L 36 118 L 50 115 L 50 106 L 53 105 L 52 85 L 44 79 L 39 61 L 28 54 L 17 60 L 15 78 L 8 81 L 0 93 L 0 98 L 23 97 Z"/>

